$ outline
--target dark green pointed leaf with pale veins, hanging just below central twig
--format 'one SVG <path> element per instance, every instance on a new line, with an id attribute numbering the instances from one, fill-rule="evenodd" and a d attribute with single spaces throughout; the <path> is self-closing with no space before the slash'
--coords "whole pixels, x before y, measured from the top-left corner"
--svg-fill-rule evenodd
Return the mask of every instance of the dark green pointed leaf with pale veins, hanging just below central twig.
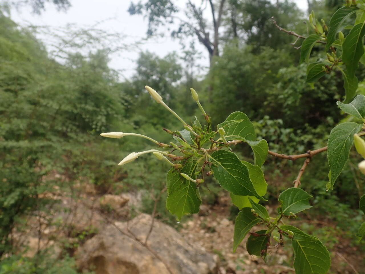
<path id="1" fill-rule="evenodd" d="M 255 190 L 250 180 L 248 168 L 241 163 L 234 153 L 219 150 L 211 155 L 211 159 L 214 176 L 223 189 L 235 195 L 254 196 L 260 200 L 265 200 Z"/>

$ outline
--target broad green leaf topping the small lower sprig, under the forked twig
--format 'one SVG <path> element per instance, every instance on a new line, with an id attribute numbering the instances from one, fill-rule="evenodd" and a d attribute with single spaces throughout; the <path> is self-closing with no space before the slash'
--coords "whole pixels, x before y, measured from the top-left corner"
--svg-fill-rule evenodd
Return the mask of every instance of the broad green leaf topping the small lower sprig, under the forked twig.
<path id="1" fill-rule="evenodd" d="M 298 187 L 291 187 L 282 193 L 280 193 L 278 200 L 282 201 L 282 209 L 284 215 L 290 215 L 290 212 L 294 214 L 311 208 L 309 205 L 309 199 L 312 195 L 309 195 L 303 189 Z"/>

